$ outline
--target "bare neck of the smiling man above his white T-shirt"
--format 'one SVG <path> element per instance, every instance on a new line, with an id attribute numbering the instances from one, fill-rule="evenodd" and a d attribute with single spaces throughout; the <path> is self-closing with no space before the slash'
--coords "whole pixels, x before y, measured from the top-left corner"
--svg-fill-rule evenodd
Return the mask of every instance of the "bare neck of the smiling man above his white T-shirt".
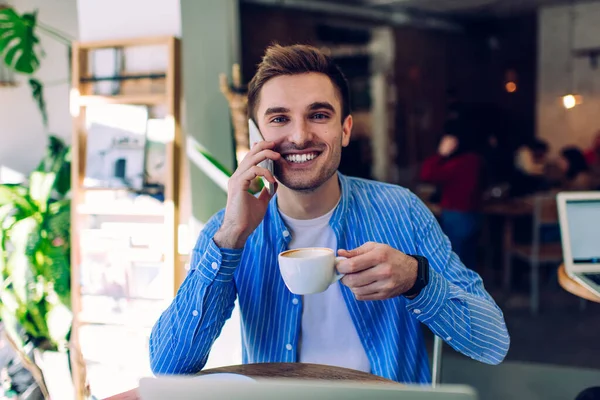
<path id="1" fill-rule="evenodd" d="M 337 172 L 327 182 L 310 192 L 300 192 L 279 185 L 277 205 L 281 212 L 294 219 L 313 219 L 327 214 L 342 194 Z"/>

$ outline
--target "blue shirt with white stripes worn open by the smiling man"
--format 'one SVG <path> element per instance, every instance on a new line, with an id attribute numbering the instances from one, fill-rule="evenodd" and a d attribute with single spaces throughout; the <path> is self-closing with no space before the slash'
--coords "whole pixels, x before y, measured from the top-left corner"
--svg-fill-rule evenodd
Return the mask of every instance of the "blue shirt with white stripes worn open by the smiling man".
<path id="1" fill-rule="evenodd" d="M 429 209 L 405 188 L 338 175 L 342 196 L 330 225 L 339 248 L 385 243 L 423 255 L 431 266 L 429 284 L 413 300 L 399 296 L 358 301 L 341 286 L 371 372 L 399 382 L 430 382 L 421 323 L 475 360 L 501 362 L 510 343 L 502 311 L 479 275 L 452 252 Z M 200 233 L 190 271 L 152 329 L 150 363 L 155 374 L 201 370 L 236 296 L 243 362 L 298 359 L 302 301 L 279 273 L 277 255 L 287 248 L 290 233 L 276 198 L 243 249 L 221 249 L 212 240 L 223 215 L 223 210 L 215 214 Z"/>

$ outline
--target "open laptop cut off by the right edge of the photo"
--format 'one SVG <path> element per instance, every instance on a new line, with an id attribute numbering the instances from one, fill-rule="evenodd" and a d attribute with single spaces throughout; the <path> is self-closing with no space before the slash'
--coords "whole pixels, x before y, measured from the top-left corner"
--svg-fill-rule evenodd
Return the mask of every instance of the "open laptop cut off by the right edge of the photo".
<path id="1" fill-rule="evenodd" d="M 600 191 L 561 192 L 557 204 L 565 271 L 600 296 Z"/>

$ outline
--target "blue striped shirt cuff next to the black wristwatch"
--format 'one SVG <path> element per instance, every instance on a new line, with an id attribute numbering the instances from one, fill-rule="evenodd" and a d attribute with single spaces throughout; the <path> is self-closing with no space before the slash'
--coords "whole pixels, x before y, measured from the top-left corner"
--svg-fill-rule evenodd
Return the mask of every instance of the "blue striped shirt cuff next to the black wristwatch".
<path id="1" fill-rule="evenodd" d="M 448 299 L 450 287 L 448 281 L 433 268 L 429 267 L 429 283 L 421 293 L 408 300 L 406 309 L 423 323 L 437 315 Z"/>

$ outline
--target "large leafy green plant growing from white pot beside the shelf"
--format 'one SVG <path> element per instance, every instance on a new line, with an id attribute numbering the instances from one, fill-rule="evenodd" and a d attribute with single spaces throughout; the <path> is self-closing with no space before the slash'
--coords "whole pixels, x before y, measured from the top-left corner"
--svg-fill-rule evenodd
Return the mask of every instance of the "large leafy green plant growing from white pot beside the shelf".
<path id="1" fill-rule="evenodd" d="M 54 136 L 28 182 L 0 184 L 0 319 L 45 396 L 39 360 L 26 349 L 41 359 L 68 347 L 70 186 L 70 149 Z"/>

